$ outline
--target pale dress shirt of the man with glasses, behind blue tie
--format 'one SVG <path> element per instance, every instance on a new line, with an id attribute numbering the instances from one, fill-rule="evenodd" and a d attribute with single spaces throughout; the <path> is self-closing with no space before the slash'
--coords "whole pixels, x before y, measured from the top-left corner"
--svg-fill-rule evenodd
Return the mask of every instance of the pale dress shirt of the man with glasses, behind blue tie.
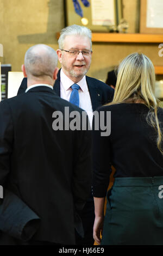
<path id="1" fill-rule="evenodd" d="M 60 97 L 64 100 L 70 101 L 70 95 L 72 92 L 72 84 L 74 82 L 68 78 L 64 72 L 60 71 Z M 93 109 L 92 109 L 92 102 L 89 93 L 89 89 L 87 88 L 86 77 L 84 76 L 82 80 L 78 83 L 80 86 L 79 89 L 79 107 L 84 109 L 89 117 L 90 125 L 92 126 L 92 118 L 93 118 Z"/>

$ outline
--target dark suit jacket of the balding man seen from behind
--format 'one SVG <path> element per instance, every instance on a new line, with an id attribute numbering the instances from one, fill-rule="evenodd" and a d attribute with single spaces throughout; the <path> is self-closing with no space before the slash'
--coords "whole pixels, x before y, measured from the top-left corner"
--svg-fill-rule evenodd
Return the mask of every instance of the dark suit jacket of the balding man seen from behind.
<path id="1" fill-rule="evenodd" d="M 43 86 L 0 103 L 0 230 L 9 240 L 37 230 L 33 240 L 75 243 L 74 218 L 91 187 L 91 141 L 90 131 L 52 129 L 53 112 L 64 117 L 65 107 L 82 113 Z"/>

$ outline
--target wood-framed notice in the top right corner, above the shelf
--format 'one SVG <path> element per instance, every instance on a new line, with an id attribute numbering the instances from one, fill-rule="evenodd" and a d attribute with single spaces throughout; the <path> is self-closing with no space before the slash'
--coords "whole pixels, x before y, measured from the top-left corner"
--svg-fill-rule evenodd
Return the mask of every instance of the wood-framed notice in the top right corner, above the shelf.
<path id="1" fill-rule="evenodd" d="M 141 0 L 140 33 L 163 34 L 162 0 Z"/>

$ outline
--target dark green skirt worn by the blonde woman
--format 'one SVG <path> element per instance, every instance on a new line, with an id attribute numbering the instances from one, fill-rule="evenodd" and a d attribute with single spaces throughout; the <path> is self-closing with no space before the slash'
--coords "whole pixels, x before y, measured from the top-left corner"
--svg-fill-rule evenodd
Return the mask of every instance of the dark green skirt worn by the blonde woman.
<path id="1" fill-rule="evenodd" d="M 115 179 L 101 245 L 163 245 L 163 176 Z"/>

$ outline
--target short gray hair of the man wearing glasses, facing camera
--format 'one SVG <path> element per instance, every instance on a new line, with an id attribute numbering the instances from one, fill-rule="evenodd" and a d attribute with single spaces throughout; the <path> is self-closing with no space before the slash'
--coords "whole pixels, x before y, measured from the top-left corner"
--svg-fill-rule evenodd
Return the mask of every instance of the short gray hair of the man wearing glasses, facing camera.
<path id="1" fill-rule="evenodd" d="M 90 39 L 91 43 L 91 49 L 92 49 L 92 32 L 89 28 L 86 28 L 84 26 L 79 26 L 79 25 L 71 25 L 66 28 L 63 28 L 60 32 L 60 38 L 58 40 L 58 45 L 60 49 L 64 48 L 64 42 L 65 42 L 65 37 L 67 35 L 83 35 L 87 36 Z"/>

